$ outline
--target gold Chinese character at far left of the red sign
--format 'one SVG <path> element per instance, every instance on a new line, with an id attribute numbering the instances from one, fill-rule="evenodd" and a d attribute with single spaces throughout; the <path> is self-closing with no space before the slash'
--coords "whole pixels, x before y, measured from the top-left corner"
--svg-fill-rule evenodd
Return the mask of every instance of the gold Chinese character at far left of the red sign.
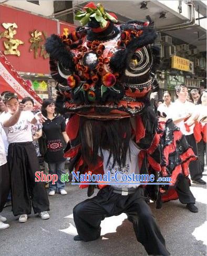
<path id="1" fill-rule="evenodd" d="M 18 57 L 20 56 L 20 52 L 17 49 L 17 47 L 20 44 L 24 44 L 21 40 L 15 39 L 14 36 L 16 35 L 17 31 L 15 28 L 17 28 L 16 23 L 2 23 L 2 26 L 6 28 L 6 30 L 2 33 L 0 33 L 0 38 L 7 38 L 7 41 L 4 41 L 4 47 L 5 51 L 4 54 L 14 54 Z"/>

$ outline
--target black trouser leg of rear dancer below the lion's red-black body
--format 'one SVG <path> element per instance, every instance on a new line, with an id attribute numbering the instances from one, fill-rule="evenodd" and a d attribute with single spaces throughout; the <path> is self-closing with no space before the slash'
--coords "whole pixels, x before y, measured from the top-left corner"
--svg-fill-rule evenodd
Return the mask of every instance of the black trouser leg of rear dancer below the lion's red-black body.
<path id="1" fill-rule="evenodd" d="M 175 190 L 178 193 L 178 197 L 181 203 L 187 204 L 187 203 L 195 203 L 195 198 L 190 191 L 190 185 L 183 175 L 178 176 L 178 181 L 175 186 Z"/>

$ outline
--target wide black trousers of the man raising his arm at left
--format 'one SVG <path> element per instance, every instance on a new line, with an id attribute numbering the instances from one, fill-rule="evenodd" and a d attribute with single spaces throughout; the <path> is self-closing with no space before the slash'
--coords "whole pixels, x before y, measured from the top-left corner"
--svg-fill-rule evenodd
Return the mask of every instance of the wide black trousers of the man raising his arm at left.
<path id="1" fill-rule="evenodd" d="M 39 171 L 39 163 L 33 143 L 9 144 L 8 163 L 14 215 L 30 214 L 32 206 L 34 213 L 49 211 L 44 183 L 35 182 L 35 172 Z"/>

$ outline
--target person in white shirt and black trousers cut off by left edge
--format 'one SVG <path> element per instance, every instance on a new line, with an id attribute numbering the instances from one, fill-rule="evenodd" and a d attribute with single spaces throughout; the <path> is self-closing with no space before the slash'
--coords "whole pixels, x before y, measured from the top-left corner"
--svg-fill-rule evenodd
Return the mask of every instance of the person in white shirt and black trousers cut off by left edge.
<path id="1" fill-rule="evenodd" d="M 4 208 L 4 204 L 6 203 L 6 199 L 9 193 L 9 171 L 4 142 L 1 134 L 2 131 L 3 128 L 0 123 L 0 212 L 2 212 Z M 7 229 L 9 227 L 9 224 L 3 223 L 5 221 L 6 218 L 0 215 L 0 230 Z"/>

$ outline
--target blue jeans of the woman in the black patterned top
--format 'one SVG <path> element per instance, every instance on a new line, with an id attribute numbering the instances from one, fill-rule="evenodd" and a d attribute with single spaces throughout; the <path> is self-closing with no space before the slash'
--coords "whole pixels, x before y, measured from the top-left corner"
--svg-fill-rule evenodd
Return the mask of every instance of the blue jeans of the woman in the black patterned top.
<path id="1" fill-rule="evenodd" d="M 57 163 L 48 163 L 49 174 L 57 174 L 58 180 L 55 184 L 49 182 L 49 191 L 51 190 L 58 190 L 65 188 L 65 182 L 61 181 L 61 174 L 65 173 L 65 161 L 64 162 L 57 162 Z"/>

